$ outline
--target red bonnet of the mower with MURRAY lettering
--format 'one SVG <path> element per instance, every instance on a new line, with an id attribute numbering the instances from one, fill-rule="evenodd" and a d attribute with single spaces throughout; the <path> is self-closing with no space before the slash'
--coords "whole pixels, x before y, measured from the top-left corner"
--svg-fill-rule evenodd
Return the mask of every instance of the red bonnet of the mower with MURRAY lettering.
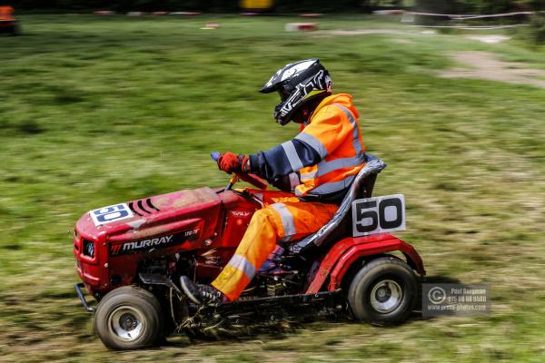
<path id="1" fill-rule="evenodd" d="M 86 289 L 95 296 L 132 283 L 143 260 L 189 250 L 195 251 L 199 274 L 204 280 L 212 280 L 231 258 L 253 212 L 260 208 L 257 202 L 233 191 L 218 193 L 210 188 L 175 191 L 127 204 L 133 211 L 132 218 L 95 225 L 87 212 L 77 221 L 77 271 Z M 171 242 L 157 248 L 129 250 L 162 238 L 170 238 Z M 89 242 L 94 243 L 94 257 L 84 253 L 84 244 Z M 199 260 L 204 252 L 208 252 L 206 259 Z M 207 264 L 207 260 L 214 264 Z M 115 286 L 111 286 L 113 277 Z"/>

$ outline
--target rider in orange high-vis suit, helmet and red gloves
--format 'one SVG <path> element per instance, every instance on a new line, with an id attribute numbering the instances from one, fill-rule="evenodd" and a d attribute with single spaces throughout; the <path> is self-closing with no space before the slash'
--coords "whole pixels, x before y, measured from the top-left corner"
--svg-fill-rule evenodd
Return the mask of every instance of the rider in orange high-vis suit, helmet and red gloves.
<path id="1" fill-rule="evenodd" d="M 196 304 L 237 299 L 276 248 L 277 240 L 299 240 L 332 219 L 355 175 L 365 164 L 359 113 L 346 93 L 332 94 L 332 79 L 318 59 L 287 64 L 261 89 L 278 92 L 274 118 L 301 132 L 266 152 L 248 156 L 225 152 L 224 172 L 251 172 L 282 191 L 263 191 L 243 240 L 212 286 L 181 278 Z M 259 195 L 259 194 L 258 194 Z"/>

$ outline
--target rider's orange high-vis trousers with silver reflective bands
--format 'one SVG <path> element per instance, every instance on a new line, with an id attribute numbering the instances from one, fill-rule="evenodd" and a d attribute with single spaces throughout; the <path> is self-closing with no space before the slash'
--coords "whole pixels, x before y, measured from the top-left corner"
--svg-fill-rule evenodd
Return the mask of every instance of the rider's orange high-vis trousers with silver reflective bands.
<path id="1" fill-rule="evenodd" d="M 243 240 L 212 286 L 227 299 L 237 299 L 276 248 L 277 240 L 300 240 L 318 231 L 337 209 L 335 204 L 299 201 L 285 191 L 263 191 L 263 209 L 253 213 Z"/>

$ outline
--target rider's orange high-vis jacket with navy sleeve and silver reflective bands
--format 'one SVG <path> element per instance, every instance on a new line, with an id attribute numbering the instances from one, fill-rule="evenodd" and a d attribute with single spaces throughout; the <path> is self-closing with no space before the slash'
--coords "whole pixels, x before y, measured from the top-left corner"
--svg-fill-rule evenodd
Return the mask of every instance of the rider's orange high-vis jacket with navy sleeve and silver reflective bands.
<path id="1" fill-rule="evenodd" d="M 324 98 L 295 138 L 250 155 L 252 172 L 269 182 L 289 176 L 300 197 L 342 193 L 365 164 L 358 116 L 350 94 Z"/>

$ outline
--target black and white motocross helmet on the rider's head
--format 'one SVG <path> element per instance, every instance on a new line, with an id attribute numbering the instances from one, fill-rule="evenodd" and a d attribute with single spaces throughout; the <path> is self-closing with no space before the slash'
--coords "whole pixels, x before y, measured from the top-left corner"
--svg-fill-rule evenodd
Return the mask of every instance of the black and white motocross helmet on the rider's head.
<path id="1" fill-rule="evenodd" d="M 318 58 L 307 59 L 286 64 L 260 90 L 261 93 L 274 91 L 281 99 L 274 108 L 274 119 L 285 125 L 304 103 L 330 95 L 332 79 Z"/>

